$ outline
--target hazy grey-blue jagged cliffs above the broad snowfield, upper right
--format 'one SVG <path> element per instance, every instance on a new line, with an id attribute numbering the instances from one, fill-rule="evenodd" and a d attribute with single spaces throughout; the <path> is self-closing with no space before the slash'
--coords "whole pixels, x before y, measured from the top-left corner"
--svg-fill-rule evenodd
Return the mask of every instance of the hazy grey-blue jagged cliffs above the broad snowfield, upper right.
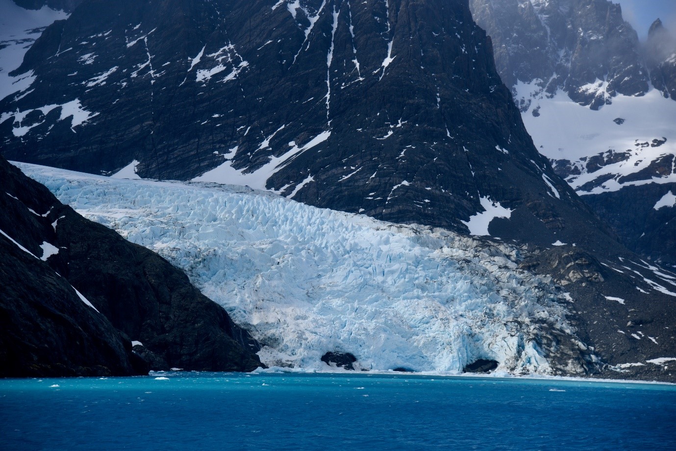
<path id="1" fill-rule="evenodd" d="M 644 95 L 636 32 L 620 5 L 607 0 L 470 0 L 477 24 L 496 49 L 508 86 L 539 80 L 548 93 L 563 89 L 593 110 L 617 94 Z M 523 105 L 527 108 L 526 105 Z"/>

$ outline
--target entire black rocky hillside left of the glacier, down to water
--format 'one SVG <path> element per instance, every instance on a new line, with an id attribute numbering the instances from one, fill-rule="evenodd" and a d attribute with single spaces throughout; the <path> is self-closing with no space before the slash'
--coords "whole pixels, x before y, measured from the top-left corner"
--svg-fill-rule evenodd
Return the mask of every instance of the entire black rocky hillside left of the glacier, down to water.
<path id="1" fill-rule="evenodd" d="M 5 160 L 0 175 L 0 230 L 34 255 L 0 239 L 9 254 L 0 284 L 6 375 L 142 373 L 130 337 L 168 367 L 260 365 L 256 343 L 183 272 L 82 218 Z"/>

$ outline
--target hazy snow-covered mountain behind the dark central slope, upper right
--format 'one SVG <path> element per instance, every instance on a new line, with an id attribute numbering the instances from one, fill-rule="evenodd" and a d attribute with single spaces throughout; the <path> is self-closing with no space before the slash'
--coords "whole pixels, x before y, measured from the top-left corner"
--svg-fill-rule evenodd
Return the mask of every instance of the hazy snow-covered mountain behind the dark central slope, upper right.
<path id="1" fill-rule="evenodd" d="M 676 264 L 676 43 L 607 0 L 472 0 L 539 151 L 631 250 Z"/>

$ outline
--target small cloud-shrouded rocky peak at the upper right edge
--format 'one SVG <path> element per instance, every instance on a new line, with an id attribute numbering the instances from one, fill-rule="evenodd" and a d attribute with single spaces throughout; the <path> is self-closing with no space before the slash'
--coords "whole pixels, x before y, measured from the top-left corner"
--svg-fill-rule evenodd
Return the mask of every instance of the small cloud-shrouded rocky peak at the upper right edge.
<path id="1" fill-rule="evenodd" d="M 648 32 L 646 65 L 652 85 L 665 97 L 676 99 L 676 38 L 656 20 Z"/>

